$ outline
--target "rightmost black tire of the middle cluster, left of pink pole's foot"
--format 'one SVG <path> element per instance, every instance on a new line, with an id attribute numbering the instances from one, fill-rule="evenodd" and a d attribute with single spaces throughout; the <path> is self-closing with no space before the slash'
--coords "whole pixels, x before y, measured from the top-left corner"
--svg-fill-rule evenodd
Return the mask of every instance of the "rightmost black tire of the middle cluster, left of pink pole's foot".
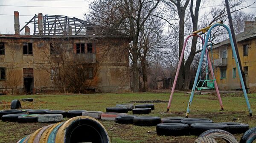
<path id="1" fill-rule="evenodd" d="M 161 118 L 157 116 L 138 116 L 134 117 L 133 123 L 137 126 L 156 126 L 161 122 Z"/>

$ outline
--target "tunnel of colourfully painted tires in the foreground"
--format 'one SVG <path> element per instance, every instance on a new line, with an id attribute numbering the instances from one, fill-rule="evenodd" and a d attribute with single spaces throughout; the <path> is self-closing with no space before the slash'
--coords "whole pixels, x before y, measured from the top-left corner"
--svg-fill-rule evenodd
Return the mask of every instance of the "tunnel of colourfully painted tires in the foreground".
<path id="1" fill-rule="evenodd" d="M 110 143 L 108 132 L 94 118 L 77 116 L 44 126 L 17 143 Z"/>

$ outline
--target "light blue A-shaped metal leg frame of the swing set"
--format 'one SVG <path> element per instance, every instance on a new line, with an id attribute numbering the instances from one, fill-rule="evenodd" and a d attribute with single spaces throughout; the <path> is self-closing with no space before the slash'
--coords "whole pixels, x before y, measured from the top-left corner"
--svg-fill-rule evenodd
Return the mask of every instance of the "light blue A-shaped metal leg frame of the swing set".
<path id="1" fill-rule="evenodd" d="M 196 72 L 196 75 L 195 75 L 195 81 L 194 81 L 193 88 L 192 88 L 192 91 L 191 91 L 191 95 L 190 95 L 190 98 L 189 98 L 189 104 L 188 104 L 188 107 L 187 107 L 187 110 L 186 110 L 186 118 L 189 117 L 189 111 L 190 111 L 189 107 L 191 106 L 192 100 L 193 100 L 193 97 L 194 97 L 195 87 L 196 87 L 198 76 L 199 76 L 199 73 L 200 73 L 200 68 L 202 66 L 202 62 L 203 62 L 203 59 L 204 59 L 204 54 L 205 54 L 205 50 L 206 50 L 207 43 L 208 43 L 208 40 L 209 40 L 209 35 L 210 35 L 210 32 L 211 32 L 212 28 L 215 28 L 216 26 L 223 26 L 224 28 L 227 29 L 228 35 L 230 37 L 230 44 L 231 44 L 231 47 L 232 47 L 232 51 L 233 51 L 234 56 L 235 56 L 236 67 L 238 69 L 239 79 L 240 79 L 240 82 L 241 82 L 241 85 L 242 85 L 244 98 L 245 98 L 245 101 L 246 101 L 246 104 L 247 104 L 247 108 L 249 110 L 249 115 L 252 116 L 252 110 L 250 108 L 249 99 L 248 99 L 248 96 L 247 96 L 247 93 L 246 93 L 246 90 L 245 90 L 245 87 L 244 87 L 244 81 L 243 81 L 243 78 L 242 78 L 241 69 L 239 67 L 239 62 L 238 62 L 238 59 L 237 59 L 236 50 L 235 50 L 234 42 L 233 42 L 233 39 L 232 39 L 231 31 L 227 27 L 227 25 L 224 25 L 222 23 L 216 23 L 214 25 L 211 25 L 210 27 L 209 26 L 207 27 L 207 28 L 209 28 L 209 30 L 207 32 L 207 36 L 206 36 L 206 39 L 204 41 L 204 48 L 202 50 L 202 54 L 201 54 L 200 61 L 199 61 L 199 64 L 198 64 L 198 69 L 197 69 L 197 72 Z M 203 28 L 203 29 L 205 29 L 205 28 Z M 196 31 L 196 32 L 200 32 L 200 30 Z"/>

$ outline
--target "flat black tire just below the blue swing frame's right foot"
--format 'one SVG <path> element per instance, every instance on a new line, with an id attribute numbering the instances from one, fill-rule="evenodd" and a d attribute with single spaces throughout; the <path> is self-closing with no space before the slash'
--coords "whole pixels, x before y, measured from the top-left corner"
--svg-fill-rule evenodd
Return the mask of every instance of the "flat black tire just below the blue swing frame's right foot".
<path id="1" fill-rule="evenodd" d="M 220 124 L 227 125 L 228 129 L 225 129 L 225 131 L 231 134 L 244 133 L 250 128 L 247 123 L 222 122 Z"/>

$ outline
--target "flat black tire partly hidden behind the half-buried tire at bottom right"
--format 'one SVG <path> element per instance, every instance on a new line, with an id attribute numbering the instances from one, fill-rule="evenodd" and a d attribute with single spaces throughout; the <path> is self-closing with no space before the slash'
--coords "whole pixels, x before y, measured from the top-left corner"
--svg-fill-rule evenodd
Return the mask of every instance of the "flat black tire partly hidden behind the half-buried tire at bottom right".
<path id="1" fill-rule="evenodd" d="M 191 135 L 200 135 L 202 132 L 205 132 L 209 129 L 228 129 L 226 124 L 220 123 L 192 123 L 189 127 Z"/>

